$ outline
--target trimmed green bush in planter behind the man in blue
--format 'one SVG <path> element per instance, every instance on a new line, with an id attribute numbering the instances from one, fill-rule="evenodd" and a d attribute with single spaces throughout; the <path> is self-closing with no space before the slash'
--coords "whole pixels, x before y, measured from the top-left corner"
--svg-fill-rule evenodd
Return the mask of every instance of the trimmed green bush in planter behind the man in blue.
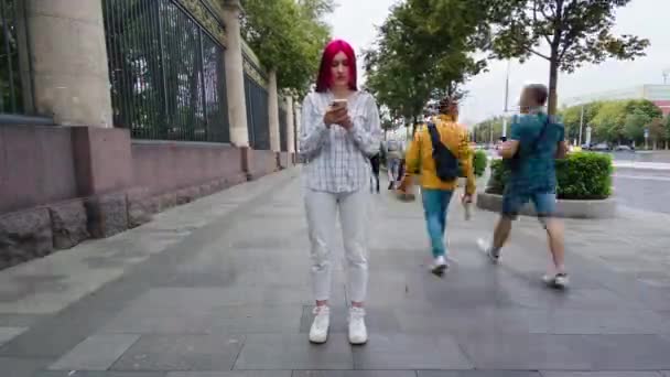
<path id="1" fill-rule="evenodd" d="M 491 161 L 487 193 L 502 194 L 509 169 L 502 160 Z M 603 200 L 612 195 L 612 157 L 594 152 L 570 153 L 556 160 L 556 193 L 564 200 Z"/>

